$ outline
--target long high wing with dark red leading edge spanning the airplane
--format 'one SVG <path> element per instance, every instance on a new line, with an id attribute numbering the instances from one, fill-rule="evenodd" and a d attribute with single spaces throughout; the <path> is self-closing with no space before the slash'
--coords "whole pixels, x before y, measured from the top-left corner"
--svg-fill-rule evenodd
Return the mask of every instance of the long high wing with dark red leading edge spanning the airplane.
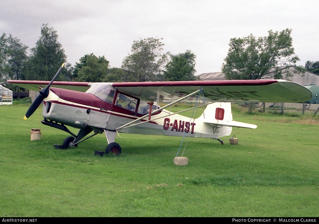
<path id="1" fill-rule="evenodd" d="M 39 90 L 49 81 L 8 80 L 17 86 Z M 177 100 L 198 89 L 202 89 L 206 100 L 286 102 L 300 103 L 312 98 L 311 90 L 291 81 L 285 80 L 222 80 L 222 81 L 165 81 L 165 82 L 61 82 L 54 81 L 51 87 L 85 92 L 96 85 L 113 86 L 119 91 L 146 101 Z M 197 99 L 197 95 L 188 99 Z"/>

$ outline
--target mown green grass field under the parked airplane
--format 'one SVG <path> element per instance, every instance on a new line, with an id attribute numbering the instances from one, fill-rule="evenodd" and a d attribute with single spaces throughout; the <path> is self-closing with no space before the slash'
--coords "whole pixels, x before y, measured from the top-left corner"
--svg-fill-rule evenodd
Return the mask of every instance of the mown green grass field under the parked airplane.
<path id="1" fill-rule="evenodd" d="M 191 138 L 183 155 L 189 165 L 175 166 L 179 137 L 120 134 L 120 156 L 94 155 L 105 150 L 104 135 L 56 150 L 68 134 L 40 126 L 40 110 L 24 121 L 28 106 L 0 106 L 1 217 L 319 215 L 319 125 L 312 115 L 234 107 L 234 120 L 257 129 L 234 128 L 238 145 L 229 137 L 224 145 Z M 42 140 L 30 141 L 39 127 Z"/>

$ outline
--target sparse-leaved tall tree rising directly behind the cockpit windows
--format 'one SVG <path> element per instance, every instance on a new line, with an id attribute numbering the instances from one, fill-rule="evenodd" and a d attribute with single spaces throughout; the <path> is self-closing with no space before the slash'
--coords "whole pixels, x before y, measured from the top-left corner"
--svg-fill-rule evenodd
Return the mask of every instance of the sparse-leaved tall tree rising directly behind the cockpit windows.
<path id="1" fill-rule="evenodd" d="M 134 41 L 131 53 L 122 62 L 122 69 L 133 72 L 133 81 L 157 81 L 167 62 L 161 39 L 146 38 Z"/>

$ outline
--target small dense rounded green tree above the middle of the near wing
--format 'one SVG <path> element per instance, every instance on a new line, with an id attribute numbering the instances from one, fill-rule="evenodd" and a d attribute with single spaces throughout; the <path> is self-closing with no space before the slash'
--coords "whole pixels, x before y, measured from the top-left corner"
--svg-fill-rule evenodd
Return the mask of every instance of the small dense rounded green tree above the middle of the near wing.
<path id="1" fill-rule="evenodd" d="M 166 64 L 164 71 L 166 81 L 191 81 L 196 80 L 195 58 L 196 55 L 187 50 L 184 53 L 170 55 L 170 61 Z"/>

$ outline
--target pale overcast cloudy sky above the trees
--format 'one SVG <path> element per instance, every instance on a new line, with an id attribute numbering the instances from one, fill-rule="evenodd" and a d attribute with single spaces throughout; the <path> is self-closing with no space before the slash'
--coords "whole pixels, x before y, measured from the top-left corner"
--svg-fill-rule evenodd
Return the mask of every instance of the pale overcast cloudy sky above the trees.
<path id="1" fill-rule="evenodd" d="M 0 35 L 32 48 L 48 23 L 72 65 L 94 53 L 111 67 L 121 66 L 133 41 L 163 38 L 164 52 L 195 53 L 198 75 L 221 70 L 231 38 L 286 28 L 297 64 L 318 61 L 318 8 L 318 0 L 0 0 Z"/>

